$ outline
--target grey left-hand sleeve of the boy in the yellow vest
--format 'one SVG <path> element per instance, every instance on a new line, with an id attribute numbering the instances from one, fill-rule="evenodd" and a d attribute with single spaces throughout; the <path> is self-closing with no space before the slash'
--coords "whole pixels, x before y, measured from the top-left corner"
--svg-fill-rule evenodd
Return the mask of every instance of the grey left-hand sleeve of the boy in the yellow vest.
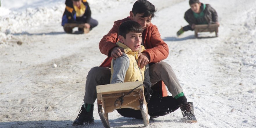
<path id="1" fill-rule="evenodd" d="M 125 74 L 130 65 L 128 56 L 123 53 L 121 57 L 116 58 L 113 61 L 113 74 L 111 79 L 112 83 L 123 83 L 125 80 Z"/>

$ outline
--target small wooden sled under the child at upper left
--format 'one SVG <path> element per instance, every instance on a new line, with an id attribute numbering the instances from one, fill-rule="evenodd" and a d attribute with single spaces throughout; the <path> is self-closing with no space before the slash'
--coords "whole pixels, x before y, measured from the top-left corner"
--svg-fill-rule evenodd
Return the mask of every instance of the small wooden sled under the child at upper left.
<path id="1" fill-rule="evenodd" d="M 67 23 L 67 24 L 65 24 L 65 25 L 64 25 L 64 31 L 65 31 L 66 33 L 72 33 L 72 29 L 73 29 L 74 27 L 78 27 L 78 28 L 80 28 L 80 29 L 83 29 L 83 33 L 85 33 L 85 34 L 90 32 L 90 29 L 89 29 L 89 28 L 86 28 L 86 27 L 84 26 L 84 24 L 75 24 L 75 23 Z"/>

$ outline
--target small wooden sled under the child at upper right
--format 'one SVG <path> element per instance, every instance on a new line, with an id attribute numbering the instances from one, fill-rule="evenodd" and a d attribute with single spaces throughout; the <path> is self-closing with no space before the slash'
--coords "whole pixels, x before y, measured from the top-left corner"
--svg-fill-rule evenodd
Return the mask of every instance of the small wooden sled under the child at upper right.
<path id="1" fill-rule="evenodd" d="M 195 37 L 198 38 L 199 32 L 215 32 L 216 37 L 218 37 L 218 24 L 201 24 L 195 25 Z"/>

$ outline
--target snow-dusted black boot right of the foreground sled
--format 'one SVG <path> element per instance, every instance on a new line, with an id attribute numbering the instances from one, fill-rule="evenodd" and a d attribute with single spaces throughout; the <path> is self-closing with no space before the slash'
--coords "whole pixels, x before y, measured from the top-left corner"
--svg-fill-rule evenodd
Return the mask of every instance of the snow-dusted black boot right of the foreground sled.
<path id="1" fill-rule="evenodd" d="M 192 102 L 182 105 L 180 109 L 187 123 L 197 123 Z"/>

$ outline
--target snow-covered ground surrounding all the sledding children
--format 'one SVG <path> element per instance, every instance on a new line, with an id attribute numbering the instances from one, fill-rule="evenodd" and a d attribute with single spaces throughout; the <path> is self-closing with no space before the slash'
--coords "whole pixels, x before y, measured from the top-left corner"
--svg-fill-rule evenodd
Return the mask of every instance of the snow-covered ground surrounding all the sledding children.
<path id="1" fill-rule="evenodd" d="M 88 0 L 99 25 L 84 35 L 66 34 L 61 26 L 65 0 L 1 0 L 0 127 L 72 127 L 88 71 L 106 58 L 98 48 L 113 22 L 129 15 L 135 0 Z M 256 127 L 256 1 L 201 0 L 219 16 L 214 33 L 185 32 L 188 0 L 150 0 L 157 25 L 169 46 L 165 62 L 175 71 L 196 124 L 182 122 L 180 110 L 150 120 L 149 128 Z M 17 42 L 22 42 L 18 45 Z M 19 43 L 20 44 L 20 43 Z M 57 67 L 53 65 L 56 64 Z M 103 127 L 94 107 L 94 125 Z M 142 120 L 109 113 L 111 127 L 143 127 Z"/>

